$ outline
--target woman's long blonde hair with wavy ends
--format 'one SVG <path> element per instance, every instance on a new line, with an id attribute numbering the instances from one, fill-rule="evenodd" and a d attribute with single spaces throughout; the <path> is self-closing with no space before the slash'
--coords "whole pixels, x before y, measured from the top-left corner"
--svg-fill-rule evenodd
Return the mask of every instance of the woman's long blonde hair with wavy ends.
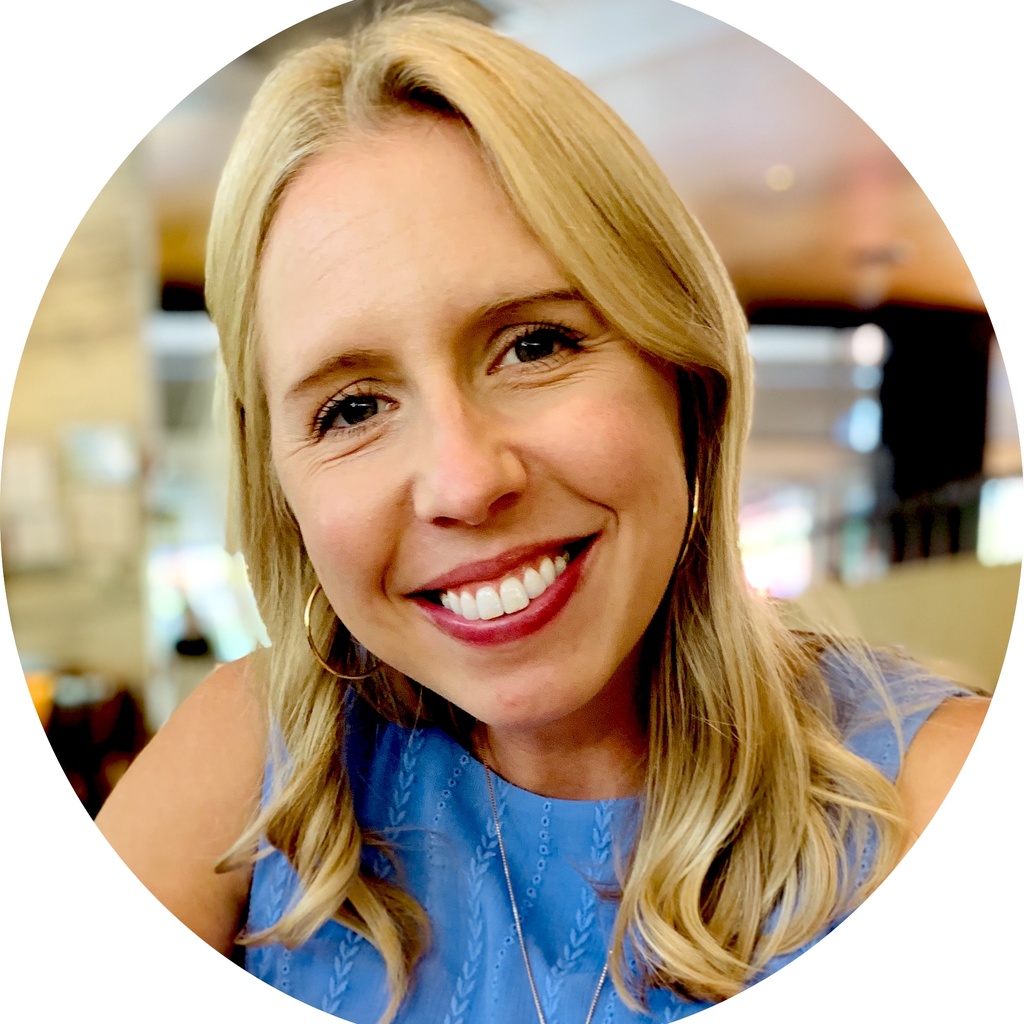
<path id="1" fill-rule="evenodd" d="M 611 975 L 631 1005 L 651 987 L 720 999 L 799 948 L 869 891 L 902 838 L 894 787 L 843 745 L 821 645 L 752 595 L 737 543 L 752 403 L 746 324 L 703 232 L 632 132 L 575 79 L 488 29 L 402 13 L 282 63 L 257 94 L 217 194 L 208 302 L 229 384 L 238 543 L 272 647 L 261 651 L 287 765 L 225 863 L 260 836 L 302 884 L 252 941 L 298 944 L 327 920 L 387 965 L 393 1015 L 427 925 L 400 888 L 360 873 L 364 843 L 341 758 L 345 688 L 306 649 L 315 578 L 269 460 L 257 358 L 260 258 L 283 194 L 346 132 L 396 116 L 460 119 L 522 221 L 569 283 L 640 348 L 676 365 L 686 469 L 699 480 L 693 543 L 648 629 L 649 757 L 642 820 L 622 879 Z M 317 624 L 322 650 L 349 653 Z M 465 715 L 387 668 L 367 687 L 399 722 L 459 731 Z M 857 887 L 868 830 L 878 856 Z M 771 919 L 768 927 L 769 918 Z M 635 971 L 624 966 L 632 953 Z"/>

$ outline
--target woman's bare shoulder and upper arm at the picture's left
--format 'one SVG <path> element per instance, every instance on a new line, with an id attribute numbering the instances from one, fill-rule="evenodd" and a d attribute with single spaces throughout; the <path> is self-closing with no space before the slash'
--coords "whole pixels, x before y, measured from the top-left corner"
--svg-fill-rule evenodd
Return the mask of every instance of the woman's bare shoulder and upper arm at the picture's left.
<path id="1" fill-rule="evenodd" d="M 135 759 L 96 818 L 146 888 L 224 953 L 251 872 L 214 868 L 259 806 L 266 732 L 250 660 L 221 666 Z"/>

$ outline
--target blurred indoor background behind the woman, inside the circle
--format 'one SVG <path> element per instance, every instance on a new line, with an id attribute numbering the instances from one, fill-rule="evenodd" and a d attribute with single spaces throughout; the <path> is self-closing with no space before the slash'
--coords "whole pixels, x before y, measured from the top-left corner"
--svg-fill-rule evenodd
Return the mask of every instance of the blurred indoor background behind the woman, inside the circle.
<path id="1" fill-rule="evenodd" d="M 224 550 L 207 221 L 269 68 L 371 6 L 268 40 L 157 125 L 82 221 L 28 339 L 4 577 L 40 716 L 90 812 L 198 680 L 261 639 Z M 1020 577 L 1020 443 L 982 297 L 907 171 L 799 68 L 670 0 L 460 6 L 609 102 L 725 259 L 757 367 L 752 586 L 794 623 L 900 644 L 991 690 Z"/>

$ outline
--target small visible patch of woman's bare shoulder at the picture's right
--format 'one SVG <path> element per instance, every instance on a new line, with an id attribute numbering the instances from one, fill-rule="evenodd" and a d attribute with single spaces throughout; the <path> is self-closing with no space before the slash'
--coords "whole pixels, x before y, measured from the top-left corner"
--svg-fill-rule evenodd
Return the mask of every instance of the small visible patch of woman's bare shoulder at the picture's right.
<path id="1" fill-rule="evenodd" d="M 932 820 L 964 767 L 988 705 L 987 697 L 951 697 L 943 701 L 907 748 L 896 779 L 910 833 L 907 849 Z"/>

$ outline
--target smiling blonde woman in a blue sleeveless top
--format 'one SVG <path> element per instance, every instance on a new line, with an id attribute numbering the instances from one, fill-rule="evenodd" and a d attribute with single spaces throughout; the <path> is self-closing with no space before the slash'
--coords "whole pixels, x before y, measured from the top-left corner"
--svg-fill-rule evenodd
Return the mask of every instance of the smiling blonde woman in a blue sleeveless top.
<path id="1" fill-rule="evenodd" d="M 745 324 L 599 100 L 444 15 L 300 53 L 208 274 L 273 646 L 99 818 L 185 924 L 357 1024 L 669 1021 L 885 877 L 984 709 L 750 593 Z"/>

